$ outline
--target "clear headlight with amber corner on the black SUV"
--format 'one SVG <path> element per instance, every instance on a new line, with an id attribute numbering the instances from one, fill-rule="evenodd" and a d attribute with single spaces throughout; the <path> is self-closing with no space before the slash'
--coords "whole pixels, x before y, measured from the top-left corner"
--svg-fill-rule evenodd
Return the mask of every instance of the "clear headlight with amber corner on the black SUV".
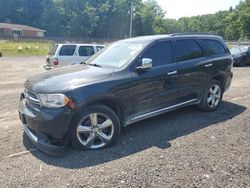
<path id="1" fill-rule="evenodd" d="M 64 94 L 39 94 L 42 106 L 47 108 L 60 108 L 68 104 L 69 98 Z"/>

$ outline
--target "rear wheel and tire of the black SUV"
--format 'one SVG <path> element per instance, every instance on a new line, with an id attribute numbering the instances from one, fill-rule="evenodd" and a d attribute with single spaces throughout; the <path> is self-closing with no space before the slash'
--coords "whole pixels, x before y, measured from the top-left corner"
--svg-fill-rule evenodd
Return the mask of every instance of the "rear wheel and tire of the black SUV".
<path id="1" fill-rule="evenodd" d="M 217 92 L 216 92 L 217 91 Z M 222 84 L 218 80 L 211 80 L 207 89 L 203 93 L 198 107 L 206 112 L 212 112 L 218 109 L 223 97 Z"/>

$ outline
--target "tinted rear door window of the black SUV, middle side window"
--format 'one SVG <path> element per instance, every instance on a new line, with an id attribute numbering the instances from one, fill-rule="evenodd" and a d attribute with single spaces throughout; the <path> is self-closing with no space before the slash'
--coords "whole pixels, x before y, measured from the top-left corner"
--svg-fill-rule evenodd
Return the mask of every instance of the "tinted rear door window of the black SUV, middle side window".
<path id="1" fill-rule="evenodd" d="M 202 48 L 196 40 L 177 40 L 175 45 L 177 61 L 187 61 L 190 59 L 203 57 Z"/>

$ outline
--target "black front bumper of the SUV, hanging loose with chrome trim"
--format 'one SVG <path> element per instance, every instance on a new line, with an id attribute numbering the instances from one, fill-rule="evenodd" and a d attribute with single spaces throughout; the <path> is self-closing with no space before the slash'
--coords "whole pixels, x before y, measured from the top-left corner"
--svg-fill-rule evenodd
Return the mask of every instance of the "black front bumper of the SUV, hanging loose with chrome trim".
<path id="1" fill-rule="evenodd" d="M 19 118 L 23 123 L 24 132 L 31 142 L 41 151 L 50 155 L 60 155 L 68 143 L 68 131 L 72 119 L 69 107 L 43 109 L 34 112 L 21 97 Z"/>

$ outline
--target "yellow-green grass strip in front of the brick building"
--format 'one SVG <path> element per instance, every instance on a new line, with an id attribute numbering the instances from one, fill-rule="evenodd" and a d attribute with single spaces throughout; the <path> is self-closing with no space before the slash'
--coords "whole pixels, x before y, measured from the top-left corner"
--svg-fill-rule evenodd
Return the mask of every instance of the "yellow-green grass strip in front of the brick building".
<path id="1" fill-rule="evenodd" d="M 39 40 L 0 40 L 3 56 L 47 55 L 52 41 Z"/>

